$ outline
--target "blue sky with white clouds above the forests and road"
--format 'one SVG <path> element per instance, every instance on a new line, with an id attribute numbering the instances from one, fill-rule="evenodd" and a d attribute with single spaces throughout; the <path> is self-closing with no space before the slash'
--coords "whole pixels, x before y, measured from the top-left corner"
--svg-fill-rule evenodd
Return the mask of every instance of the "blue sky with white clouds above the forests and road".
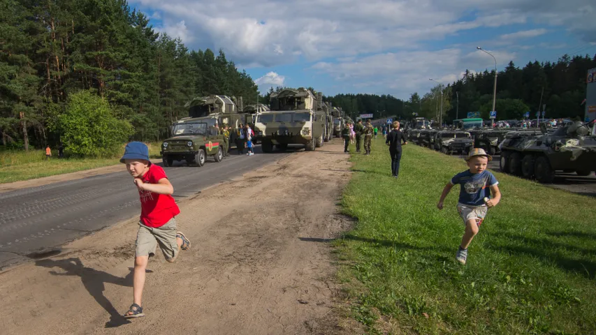
<path id="1" fill-rule="evenodd" d="M 407 99 L 466 70 L 596 54 L 593 0 L 133 0 L 157 31 L 220 48 L 261 92 Z"/>

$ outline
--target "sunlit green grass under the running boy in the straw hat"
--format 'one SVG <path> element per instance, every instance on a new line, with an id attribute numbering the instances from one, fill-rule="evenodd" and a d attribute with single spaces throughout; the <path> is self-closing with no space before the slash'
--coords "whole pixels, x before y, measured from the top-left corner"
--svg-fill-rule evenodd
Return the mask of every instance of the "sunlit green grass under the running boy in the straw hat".
<path id="1" fill-rule="evenodd" d="M 455 261 L 459 188 L 436 207 L 465 162 L 404 147 L 400 178 L 384 142 L 355 154 L 335 241 L 351 313 L 370 333 L 587 334 L 596 329 L 596 200 L 493 172 L 502 200 Z"/>

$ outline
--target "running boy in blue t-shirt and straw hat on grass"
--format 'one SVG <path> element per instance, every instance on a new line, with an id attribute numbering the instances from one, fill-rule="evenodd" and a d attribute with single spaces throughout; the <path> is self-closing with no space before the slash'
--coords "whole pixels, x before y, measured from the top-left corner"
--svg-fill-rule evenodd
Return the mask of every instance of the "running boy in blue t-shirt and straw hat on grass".
<path id="1" fill-rule="evenodd" d="M 443 201 L 456 184 L 460 184 L 460 198 L 458 200 L 458 212 L 465 225 L 465 233 L 456 254 L 456 260 L 465 264 L 467 258 L 467 246 L 470 246 L 472 239 L 478 234 L 478 228 L 486 217 L 486 211 L 495 207 L 501 200 L 501 192 L 497 186 L 499 182 L 492 173 L 486 170 L 486 165 L 493 157 L 486 154 L 484 149 L 472 149 L 470 155 L 465 158 L 468 168 L 464 172 L 456 174 L 449 183 L 445 185 L 437 208 L 443 209 Z M 493 198 L 490 198 L 490 192 Z"/>

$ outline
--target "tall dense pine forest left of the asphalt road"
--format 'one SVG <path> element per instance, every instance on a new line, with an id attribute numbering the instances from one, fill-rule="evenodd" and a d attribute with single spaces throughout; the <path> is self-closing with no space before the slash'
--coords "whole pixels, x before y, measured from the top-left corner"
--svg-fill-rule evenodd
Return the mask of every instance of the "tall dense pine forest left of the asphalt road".
<path id="1" fill-rule="evenodd" d="M 124 135 L 138 140 L 167 136 L 194 96 L 243 96 L 245 103 L 257 96 L 252 78 L 221 50 L 189 51 L 125 0 L 1 1 L 3 144 L 57 144 L 66 131 L 61 117 L 77 110 L 68 103 L 80 91 L 106 101 L 101 117 L 124 121 L 122 129 L 131 130 Z M 85 94 L 77 99 L 101 105 Z"/>

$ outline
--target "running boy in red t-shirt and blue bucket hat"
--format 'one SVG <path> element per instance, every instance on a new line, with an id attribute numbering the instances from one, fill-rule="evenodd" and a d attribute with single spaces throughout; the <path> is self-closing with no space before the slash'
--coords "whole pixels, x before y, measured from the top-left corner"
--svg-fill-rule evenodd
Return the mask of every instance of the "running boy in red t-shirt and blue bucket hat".
<path id="1" fill-rule="evenodd" d="M 171 195 L 174 188 L 166 172 L 149 161 L 149 148 L 141 142 L 126 144 L 120 163 L 126 164 L 126 170 L 134 178 L 141 209 L 135 248 L 133 304 L 124 318 L 140 318 L 145 316 L 141 298 L 149 255 L 159 244 L 166 260 L 173 262 L 180 249 L 188 250 L 191 244 L 182 232 L 176 231 L 175 216 L 180 214 L 180 209 Z"/>

